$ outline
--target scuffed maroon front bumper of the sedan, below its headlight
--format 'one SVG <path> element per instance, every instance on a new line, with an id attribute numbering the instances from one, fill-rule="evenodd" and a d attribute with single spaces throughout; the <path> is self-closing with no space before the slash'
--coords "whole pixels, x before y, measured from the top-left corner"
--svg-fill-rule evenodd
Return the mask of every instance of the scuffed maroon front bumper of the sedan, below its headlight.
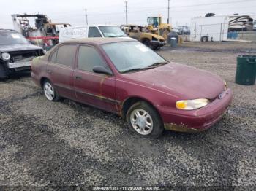
<path id="1" fill-rule="evenodd" d="M 184 111 L 159 107 L 166 130 L 181 132 L 197 132 L 211 128 L 227 112 L 232 101 L 230 89 L 222 93 L 222 98 L 216 98 L 211 104 L 200 109 Z"/>

